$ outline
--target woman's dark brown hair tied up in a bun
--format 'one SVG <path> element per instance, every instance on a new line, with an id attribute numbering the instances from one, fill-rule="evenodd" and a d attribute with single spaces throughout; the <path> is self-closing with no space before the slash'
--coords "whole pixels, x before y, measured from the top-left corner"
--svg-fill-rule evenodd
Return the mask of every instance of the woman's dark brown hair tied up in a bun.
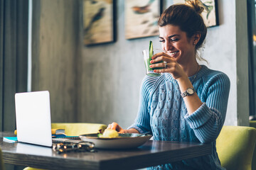
<path id="1" fill-rule="evenodd" d="M 199 3 L 198 0 L 188 0 L 186 4 L 169 6 L 161 14 L 158 21 L 160 27 L 168 24 L 178 26 L 182 31 L 186 32 L 188 38 L 191 38 L 196 33 L 200 33 L 201 38 L 196 44 L 196 50 L 203 45 L 207 33 L 206 25 L 201 16 L 204 8 Z"/>

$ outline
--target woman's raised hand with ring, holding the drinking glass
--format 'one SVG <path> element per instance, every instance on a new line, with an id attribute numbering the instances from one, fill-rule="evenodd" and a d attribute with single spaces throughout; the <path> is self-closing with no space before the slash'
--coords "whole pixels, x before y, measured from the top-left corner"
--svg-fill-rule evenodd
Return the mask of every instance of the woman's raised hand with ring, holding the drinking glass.
<path id="1" fill-rule="evenodd" d="M 165 63 L 166 62 L 166 63 Z M 168 72 L 174 77 L 174 79 L 179 79 L 181 77 L 187 77 L 183 68 L 178 64 L 173 57 L 167 55 L 165 52 L 159 52 L 151 58 L 150 61 L 152 69 L 157 67 L 163 67 L 163 69 L 154 69 L 156 73 Z"/>

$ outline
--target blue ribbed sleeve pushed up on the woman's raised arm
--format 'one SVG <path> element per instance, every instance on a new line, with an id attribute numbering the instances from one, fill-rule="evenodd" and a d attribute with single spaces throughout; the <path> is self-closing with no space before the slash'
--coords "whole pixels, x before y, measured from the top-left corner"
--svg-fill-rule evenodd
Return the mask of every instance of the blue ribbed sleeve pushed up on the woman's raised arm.
<path id="1" fill-rule="evenodd" d="M 213 142 L 218 137 L 225 121 L 230 91 L 228 76 L 218 72 L 204 80 L 201 94 L 202 106 L 194 113 L 185 115 L 185 120 L 200 142 Z"/>

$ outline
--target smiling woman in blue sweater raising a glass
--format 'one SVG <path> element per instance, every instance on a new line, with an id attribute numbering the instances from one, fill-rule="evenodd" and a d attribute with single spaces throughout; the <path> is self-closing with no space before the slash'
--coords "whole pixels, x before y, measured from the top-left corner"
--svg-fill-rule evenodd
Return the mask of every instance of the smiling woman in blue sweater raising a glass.
<path id="1" fill-rule="evenodd" d="M 151 132 L 154 140 L 210 142 L 212 154 L 150 169 L 224 169 L 215 140 L 225 120 L 230 80 L 222 72 L 199 65 L 196 52 L 206 38 L 198 1 L 170 6 L 159 18 L 162 49 L 151 60 L 160 77 L 145 77 L 135 123 L 118 132 Z M 161 63 L 159 63 L 161 62 Z"/>

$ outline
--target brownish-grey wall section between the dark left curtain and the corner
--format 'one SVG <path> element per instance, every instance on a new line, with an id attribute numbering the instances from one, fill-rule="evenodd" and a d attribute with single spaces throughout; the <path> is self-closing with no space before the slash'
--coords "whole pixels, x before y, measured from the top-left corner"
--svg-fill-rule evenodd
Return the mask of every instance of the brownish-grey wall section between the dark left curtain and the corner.
<path id="1" fill-rule="evenodd" d="M 77 1 L 33 1 L 32 91 L 50 91 L 52 122 L 76 121 Z"/>

